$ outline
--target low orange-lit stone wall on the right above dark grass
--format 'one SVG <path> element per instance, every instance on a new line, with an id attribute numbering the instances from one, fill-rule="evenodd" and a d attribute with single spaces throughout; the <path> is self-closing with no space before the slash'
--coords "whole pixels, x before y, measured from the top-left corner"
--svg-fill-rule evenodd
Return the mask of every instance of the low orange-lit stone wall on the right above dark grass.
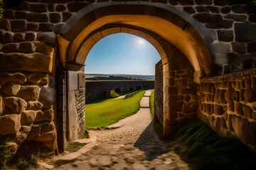
<path id="1" fill-rule="evenodd" d="M 201 79 L 198 117 L 225 137 L 256 147 L 256 69 Z"/>

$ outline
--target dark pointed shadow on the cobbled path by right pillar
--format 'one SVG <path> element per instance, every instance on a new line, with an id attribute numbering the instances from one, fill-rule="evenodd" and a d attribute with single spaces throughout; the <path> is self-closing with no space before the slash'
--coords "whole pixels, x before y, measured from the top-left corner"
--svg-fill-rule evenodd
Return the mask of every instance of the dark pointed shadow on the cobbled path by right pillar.
<path id="1" fill-rule="evenodd" d="M 135 142 L 134 147 L 144 151 L 145 159 L 151 161 L 156 159 L 161 154 L 166 154 L 170 151 L 170 147 L 164 144 L 154 133 L 153 120 L 139 136 Z"/>

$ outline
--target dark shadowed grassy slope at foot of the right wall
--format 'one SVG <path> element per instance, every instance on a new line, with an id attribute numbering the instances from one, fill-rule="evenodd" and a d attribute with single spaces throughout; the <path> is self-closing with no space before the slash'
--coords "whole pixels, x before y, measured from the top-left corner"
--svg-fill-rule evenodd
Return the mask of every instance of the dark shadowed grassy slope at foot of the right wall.
<path id="1" fill-rule="evenodd" d="M 176 134 L 192 169 L 255 169 L 256 154 L 237 139 L 220 137 L 208 125 L 186 125 Z"/>

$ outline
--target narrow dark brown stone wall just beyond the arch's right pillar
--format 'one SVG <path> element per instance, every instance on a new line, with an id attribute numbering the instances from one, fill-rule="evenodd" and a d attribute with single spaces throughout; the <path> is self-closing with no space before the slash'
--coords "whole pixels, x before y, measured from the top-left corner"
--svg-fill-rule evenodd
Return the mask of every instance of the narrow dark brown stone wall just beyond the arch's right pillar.
<path id="1" fill-rule="evenodd" d="M 154 119 L 158 119 L 163 125 L 164 113 L 164 84 L 163 84 L 163 64 L 158 62 L 156 64 L 156 78 L 154 84 Z"/>

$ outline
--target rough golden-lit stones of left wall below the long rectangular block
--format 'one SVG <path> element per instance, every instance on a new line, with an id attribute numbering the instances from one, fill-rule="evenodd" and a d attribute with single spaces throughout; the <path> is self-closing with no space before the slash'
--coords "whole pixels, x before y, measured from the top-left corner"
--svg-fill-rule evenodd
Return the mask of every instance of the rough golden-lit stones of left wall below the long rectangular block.
<path id="1" fill-rule="evenodd" d="M 33 140 L 55 150 L 55 81 L 46 73 L 0 72 L 0 139 L 16 152 Z"/>

